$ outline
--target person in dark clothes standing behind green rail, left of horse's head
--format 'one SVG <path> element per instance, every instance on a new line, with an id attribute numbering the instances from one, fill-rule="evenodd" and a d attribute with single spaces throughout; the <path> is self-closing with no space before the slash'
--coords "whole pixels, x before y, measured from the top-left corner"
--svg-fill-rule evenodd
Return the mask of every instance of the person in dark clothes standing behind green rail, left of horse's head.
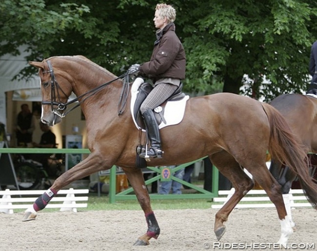
<path id="1" fill-rule="evenodd" d="M 35 117 L 31 113 L 29 106 L 27 104 L 22 104 L 16 124 L 17 146 L 25 147 L 28 143 L 32 143 L 34 130 Z"/>

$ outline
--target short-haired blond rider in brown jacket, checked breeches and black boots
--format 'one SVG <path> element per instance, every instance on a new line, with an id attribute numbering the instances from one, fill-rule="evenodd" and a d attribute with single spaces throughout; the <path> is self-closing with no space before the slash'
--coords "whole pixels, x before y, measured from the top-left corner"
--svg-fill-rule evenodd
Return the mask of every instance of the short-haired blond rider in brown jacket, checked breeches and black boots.
<path id="1" fill-rule="evenodd" d="M 154 83 L 154 88 L 141 104 L 140 111 L 151 142 L 147 155 L 162 158 L 161 139 L 153 109 L 172 96 L 180 81 L 185 78 L 186 56 L 183 45 L 175 33 L 174 7 L 158 3 L 155 10 L 153 21 L 158 30 L 151 59 L 146 63 L 131 65 L 128 74 L 140 73 Z M 139 156 L 145 158 L 146 154 L 141 153 Z"/>

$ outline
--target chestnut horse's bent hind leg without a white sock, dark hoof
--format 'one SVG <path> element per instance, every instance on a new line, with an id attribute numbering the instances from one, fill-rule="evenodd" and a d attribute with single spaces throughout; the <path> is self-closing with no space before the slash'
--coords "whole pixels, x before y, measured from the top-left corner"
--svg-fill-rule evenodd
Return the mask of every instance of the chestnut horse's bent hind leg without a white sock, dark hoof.
<path id="1" fill-rule="evenodd" d="M 229 214 L 236 207 L 243 196 L 254 187 L 254 182 L 242 170 L 238 162 L 229 153 L 222 151 L 210 156 L 211 162 L 218 170 L 228 178 L 235 188 L 234 194 L 225 205 L 216 213 L 215 234 L 218 240 L 225 233 L 224 222 L 228 220 Z"/>

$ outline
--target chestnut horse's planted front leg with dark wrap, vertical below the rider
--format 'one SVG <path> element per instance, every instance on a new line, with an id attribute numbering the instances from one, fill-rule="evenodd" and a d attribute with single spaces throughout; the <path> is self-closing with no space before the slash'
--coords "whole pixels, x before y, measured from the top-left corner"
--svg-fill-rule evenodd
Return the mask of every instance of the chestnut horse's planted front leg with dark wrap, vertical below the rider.
<path id="1" fill-rule="evenodd" d="M 134 246 L 146 246 L 150 244 L 149 240 L 151 238 L 158 238 L 158 235 L 160 233 L 158 222 L 151 207 L 150 196 L 145 186 L 141 169 L 123 168 L 123 170 L 126 173 L 129 182 L 136 193 L 139 204 L 145 214 L 145 219 L 148 227 L 146 233 L 138 238 L 138 240 L 134 243 Z"/>

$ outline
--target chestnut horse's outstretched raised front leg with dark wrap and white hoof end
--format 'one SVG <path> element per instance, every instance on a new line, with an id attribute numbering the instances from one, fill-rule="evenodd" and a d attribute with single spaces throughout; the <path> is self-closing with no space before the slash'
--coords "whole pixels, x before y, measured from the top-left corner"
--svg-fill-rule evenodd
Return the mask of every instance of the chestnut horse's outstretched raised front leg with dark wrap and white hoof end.
<path id="1" fill-rule="evenodd" d="M 109 169 L 110 167 L 112 166 L 105 167 L 105 162 L 96 154 L 90 154 L 85 160 L 60 175 L 54 181 L 52 187 L 37 198 L 31 207 L 25 210 L 22 221 L 34 220 L 37 212 L 44 209 L 61 188 L 73 181 L 82 179 L 99 170 Z"/>

